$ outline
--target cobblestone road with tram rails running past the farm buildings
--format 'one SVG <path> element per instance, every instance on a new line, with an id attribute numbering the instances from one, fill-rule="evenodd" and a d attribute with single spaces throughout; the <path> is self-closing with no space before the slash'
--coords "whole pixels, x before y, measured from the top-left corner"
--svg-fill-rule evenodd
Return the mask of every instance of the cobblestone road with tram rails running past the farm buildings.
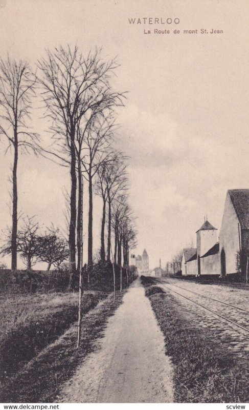
<path id="1" fill-rule="evenodd" d="M 159 279 L 159 281 L 162 283 L 161 285 L 166 292 L 170 292 L 175 298 L 177 298 L 186 312 L 194 314 L 194 318 L 196 322 L 198 322 L 198 325 L 205 328 L 208 327 L 212 331 L 214 337 L 219 339 L 229 351 L 236 353 L 238 356 L 242 356 L 243 352 L 249 352 L 248 332 L 196 304 L 202 304 L 206 308 L 247 327 L 249 331 L 249 292 L 246 290 L 224 288 L 219 285 L 196 284 L 187 281 L 183 282 L 182 280 L 170 278 Z M 180 286 L 180 288 L 178 286 Z M 196 292 L 202 296 L 191 293 L 190 291 Z M 183 298 L 183 296 L 192 301 Z M 238 306 L 239 308 L 245 309 L 246 312 L 222 304 L 218 301 L 208 299 L 207 296 Z M 193 303 L 193 301 L 196 303 Z"/>

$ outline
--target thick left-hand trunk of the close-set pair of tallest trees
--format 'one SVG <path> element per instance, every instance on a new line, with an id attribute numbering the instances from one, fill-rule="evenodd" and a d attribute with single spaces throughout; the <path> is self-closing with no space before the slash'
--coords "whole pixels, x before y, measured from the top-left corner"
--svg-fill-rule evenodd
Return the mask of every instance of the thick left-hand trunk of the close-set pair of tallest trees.
<path id="1" fill-rule="evenodd" d="M 72 288 L 73 278 L 76 270 L 75 260 L 75 231 L 76 231 L 76 192 L 77 192 L 77 176 L 76 176 L 76 155 L 74 147 L 75 132 L 71 132 L 71 195 L 70 195 L 70 226 L 69 226 L 69 289 Z"/>

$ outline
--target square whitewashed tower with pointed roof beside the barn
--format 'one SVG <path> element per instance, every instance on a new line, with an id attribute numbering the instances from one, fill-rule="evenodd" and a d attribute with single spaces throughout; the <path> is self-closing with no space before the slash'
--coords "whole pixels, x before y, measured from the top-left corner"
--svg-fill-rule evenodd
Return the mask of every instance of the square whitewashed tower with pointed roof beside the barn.
<path id="1" fill-rule="evenodd" d="M 201 274 L 200 258 L 205 255 L 217 241 L 217 229 L 206 219 L 196 232 L 197 271 Z"/>

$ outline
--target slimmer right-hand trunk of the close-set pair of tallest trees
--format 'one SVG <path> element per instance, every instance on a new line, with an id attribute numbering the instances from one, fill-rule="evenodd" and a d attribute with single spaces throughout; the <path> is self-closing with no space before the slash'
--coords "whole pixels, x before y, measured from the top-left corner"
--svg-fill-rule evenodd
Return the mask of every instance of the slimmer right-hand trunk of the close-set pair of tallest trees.
<path id="1" fill-rule="evenodd" d="M 83 180 L 81 175 L 80 161 L 78 161 L 78 215 L 77 215 L 77 272 L 80 273 L 82 266 L 82 220 L 83 220 Z"/>

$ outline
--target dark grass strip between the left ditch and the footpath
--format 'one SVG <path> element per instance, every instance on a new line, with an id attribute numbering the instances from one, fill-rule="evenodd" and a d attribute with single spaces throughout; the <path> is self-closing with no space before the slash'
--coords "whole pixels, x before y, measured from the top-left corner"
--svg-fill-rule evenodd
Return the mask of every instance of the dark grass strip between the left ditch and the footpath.
<path id="1" fill-rule="evenodd" d="M 56 402 L 62 383 L 69 379 L 83 358 L 96 349 L 103 336 L 107 318 L 122 302 L 123 293 L 112 294 L 82 319 L 80 348 L 76 349 L 77 325 L 74 323 L 59 339 L 43 349 L 12 380 L 5 384 L 2 402 Z"/>

